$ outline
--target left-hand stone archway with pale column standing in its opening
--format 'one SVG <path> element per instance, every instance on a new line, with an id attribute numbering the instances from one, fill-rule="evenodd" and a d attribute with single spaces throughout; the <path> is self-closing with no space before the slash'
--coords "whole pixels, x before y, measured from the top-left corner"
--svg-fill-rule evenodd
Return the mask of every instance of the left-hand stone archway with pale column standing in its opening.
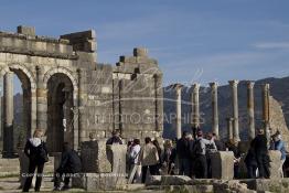
<path id="1" fill-rule="evenodd" d="M 13 117 L 13 74 L 21 82 L 23 90 L 23 109 L 21 120 L 22 137 L 13 139 L 14 117 Z M 35 109 L 35 78 L 33 74 L 21 64 L 3 64 L 0 69 L 1 77 L 4 77 L 4 96 L 3 96 L 3 156 L 10 157 L 13 154 L 14 146 L 24 146 L 25 138 L 30 137 L 35 129 L 36 112 Z M 12 96 L 11 96 L 12 95 Z M 22 128 L 23 127 L 23 128 Z M 22 139 L 23 138 L 23 139 Z"/>

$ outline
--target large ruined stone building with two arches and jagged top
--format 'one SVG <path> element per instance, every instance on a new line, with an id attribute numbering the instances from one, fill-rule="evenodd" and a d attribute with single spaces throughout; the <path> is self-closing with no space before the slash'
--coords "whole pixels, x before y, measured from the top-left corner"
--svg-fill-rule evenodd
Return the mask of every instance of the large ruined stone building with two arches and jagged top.
<path id="1" fill-rule="evenodd" d="M 116 66 L 97 62 L 94 30 L 40 36 L 34 28 L 0 32 L 3 77 L 3 156 L 13 153 L 13 74 L 23 89 L 26 136 L 41 128 L 51 152 L 64 141 L 75 149 L 89 135 L 107 138 L 162 136 L 162 73 L 146 49 L 120 56 Z M 146 122 L 146 124 L 141 124 Z"/>

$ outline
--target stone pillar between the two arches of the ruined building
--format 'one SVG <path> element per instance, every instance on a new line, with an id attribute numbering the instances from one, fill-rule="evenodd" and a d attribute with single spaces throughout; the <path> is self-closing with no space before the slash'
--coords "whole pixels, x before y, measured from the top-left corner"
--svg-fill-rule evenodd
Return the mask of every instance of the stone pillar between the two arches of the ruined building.
<path id="1" fill-rule="evenodd" d="M 46 136 L 47 129 L 47 83 L 43 83 L 43 67 L 36 66 L 36 128 Z M 32 131 L 33 132 L 33 131 Z"/>

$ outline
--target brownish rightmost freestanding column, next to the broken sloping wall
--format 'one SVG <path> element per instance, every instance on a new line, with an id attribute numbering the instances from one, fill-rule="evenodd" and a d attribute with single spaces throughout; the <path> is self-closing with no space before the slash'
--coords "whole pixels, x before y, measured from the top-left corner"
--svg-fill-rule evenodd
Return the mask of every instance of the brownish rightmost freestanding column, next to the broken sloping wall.
<path id="1" fill-rule="evenodd" d="M 261 98 L 263 98 L 263 121 L 264 121 L 264 129 L 267 137 L 267 140 L 270 139 L 270 132 L 269 132 L 269 96 L 270 96 L 270 85 L 264 84 L 261 89 Z"/>

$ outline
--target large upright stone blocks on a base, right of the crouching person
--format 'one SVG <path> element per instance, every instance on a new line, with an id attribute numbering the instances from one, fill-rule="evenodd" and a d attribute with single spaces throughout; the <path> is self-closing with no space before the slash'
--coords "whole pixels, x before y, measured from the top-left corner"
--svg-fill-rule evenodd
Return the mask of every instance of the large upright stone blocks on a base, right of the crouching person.
<path id="1" fill-rule="evenodd" d="M 115 190 L 127 184 L 126 144 L 105 144 L 105 140 L 83 143 L 83 173 L 74 178 L 73 186 L 86 191 Z"/>

